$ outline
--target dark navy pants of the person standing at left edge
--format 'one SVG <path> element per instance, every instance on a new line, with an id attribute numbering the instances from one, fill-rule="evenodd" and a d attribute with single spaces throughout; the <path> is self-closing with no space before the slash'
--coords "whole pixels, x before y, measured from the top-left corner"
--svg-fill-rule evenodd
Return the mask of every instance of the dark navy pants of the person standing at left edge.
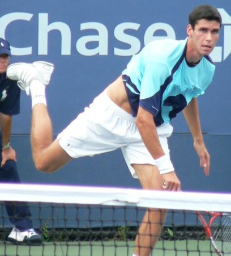
<path id="1" fill-rule="evenodd" d="M 1 152 L 1 150 L 0 150 Z M 2 161 L 2 153 L 0 153 Z M 0 167 L 1 183 L 20 183 L 16 163 L 8 160 L 3 167 Z M 27 203 L 5 202 L 6 211 L 10 222 L 20 231 L 32 228 L 31 212 Z"/>

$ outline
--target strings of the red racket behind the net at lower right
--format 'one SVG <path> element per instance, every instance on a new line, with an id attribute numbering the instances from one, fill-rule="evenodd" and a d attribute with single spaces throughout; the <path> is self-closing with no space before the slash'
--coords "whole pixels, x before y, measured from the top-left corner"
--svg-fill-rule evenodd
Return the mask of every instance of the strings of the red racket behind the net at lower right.
<path id="1" fill-rule="evenodd" d="M 219 251 L 231 253 L 231 217 L 222 216 L 220 223 L 212 226 L 212 233 Z"/>

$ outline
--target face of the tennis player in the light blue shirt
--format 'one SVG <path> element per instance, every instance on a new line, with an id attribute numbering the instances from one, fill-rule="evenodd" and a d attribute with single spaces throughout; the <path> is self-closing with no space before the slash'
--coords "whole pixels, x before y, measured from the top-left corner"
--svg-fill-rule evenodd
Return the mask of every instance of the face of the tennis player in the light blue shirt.
<path id="1" fill-rule="evenodd" d="M 220 23 L 216 20 L 201 19 L 196 23 L 194 30 L 191 25 L 187 33 L 194 44 L 194 51 L 198 56 L 208 55 L 212 52 L 219 39 Z"/>

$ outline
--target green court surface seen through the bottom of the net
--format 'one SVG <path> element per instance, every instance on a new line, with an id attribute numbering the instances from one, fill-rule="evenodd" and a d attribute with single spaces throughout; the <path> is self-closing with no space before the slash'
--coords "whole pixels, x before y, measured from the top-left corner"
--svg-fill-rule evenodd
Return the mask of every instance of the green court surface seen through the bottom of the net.
<path id="1" fill-rule="evenodd" d="M 164 248 L 164 249 L 163 249 Z M 134 242 L 45 242 L 41 246 L 11 245 L 0 242 L 0 256 L 132 256 Z M 152 255 L 157 256 L 211 256 L 209 241 L 159 241 Z M 231 254 L 225 254 L 231 255 Z"/>

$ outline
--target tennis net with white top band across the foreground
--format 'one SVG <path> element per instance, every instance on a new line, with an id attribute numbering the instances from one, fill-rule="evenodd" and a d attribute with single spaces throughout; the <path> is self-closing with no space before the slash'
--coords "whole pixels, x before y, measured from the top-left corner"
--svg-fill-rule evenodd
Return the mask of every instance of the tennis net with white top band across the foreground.
<path id="1" fill-rule="evenodd" d="M 168 210 L 151 255 L 217 255 L 198 212 L 207 222 L 211 212 L 231 212 L 230 194 L 41 184 L 0 184 L 0 202 L 0 255 L 18 256 L 132 256 L 147 209 Z M 12 224 L 5 204 L 22 202 L 29 205 L 33 226 L 43 237 L 40 246 L 7 241 Z M 225 249 L 231 244 L 231 224 L 224 236 L 222 218 L 211 229 L 221 228 L 216 233 L 219 255 L 231 255 L 231 249 Z"/>

